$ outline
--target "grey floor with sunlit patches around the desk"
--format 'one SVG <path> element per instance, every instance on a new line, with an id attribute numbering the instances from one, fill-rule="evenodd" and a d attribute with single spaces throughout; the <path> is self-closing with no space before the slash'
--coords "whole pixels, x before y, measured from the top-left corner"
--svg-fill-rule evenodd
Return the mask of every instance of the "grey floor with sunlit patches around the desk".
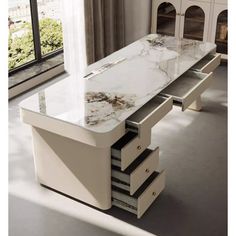
<path id="1" fill-rule="evenodd" d="M 215 71 L 202 112 L 174 108 L 153 128 L 167 183 L 140 220 L 115 207 L 90 208 L 35 181 L 30 128 L 19 120 L 18 103 L 38 89 L 9 104 L 10 236 L 227 235 L 227 67 Z"/>

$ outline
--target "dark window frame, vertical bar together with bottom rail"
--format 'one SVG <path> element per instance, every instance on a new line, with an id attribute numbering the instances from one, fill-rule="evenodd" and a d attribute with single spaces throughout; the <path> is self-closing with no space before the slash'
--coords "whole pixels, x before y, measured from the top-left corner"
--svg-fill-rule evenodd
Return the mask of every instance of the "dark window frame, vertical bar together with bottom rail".
<path id="1" fill-rule="evenodd" d="M 8 70 L 8 75 L 11 76 L 14 73 L 17 73 L 23 69 L 26 69 L 30 66 L 33 66 L 37 63 L 43 62 L 49 58 L 52 58 L 60 53 L 63 53 L 63 48 L 57 49 L 53 52 L 42 55 L 41 52 L 41 42 L 40 42 L 40 31 L 39 31 L 39 17 L 38 17 L 38 3 L 37 0 L 29 0 L 30 4 L 30 16 L 32 24 L 32 34 L 33 34 L 33 43 L 34 43 L 34 55 L 35 59 L 29 62 L 26 62 L 20 66 L 17 66 L 11 70 Z"/>

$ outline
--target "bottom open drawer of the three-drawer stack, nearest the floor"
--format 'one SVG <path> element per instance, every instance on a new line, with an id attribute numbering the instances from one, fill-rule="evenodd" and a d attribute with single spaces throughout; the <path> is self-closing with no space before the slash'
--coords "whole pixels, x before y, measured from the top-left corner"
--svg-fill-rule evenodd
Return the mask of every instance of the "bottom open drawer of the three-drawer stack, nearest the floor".
<path id="1" fill-rule="evenodd" d="M 165 187 L 165 171 L 154 172 L 133 196 L 112 186 L 112 205 L 134 213 L 140 218 Z"/>

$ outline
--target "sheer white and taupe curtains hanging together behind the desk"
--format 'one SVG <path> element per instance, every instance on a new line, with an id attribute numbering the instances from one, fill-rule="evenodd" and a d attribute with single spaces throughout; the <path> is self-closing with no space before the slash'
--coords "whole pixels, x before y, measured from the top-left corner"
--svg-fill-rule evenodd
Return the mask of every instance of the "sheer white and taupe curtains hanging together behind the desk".
<path id="1" fill-rule="evenodd" d="M 84 75 L 93 63 L 125 45 L 124 0 L 61 0 L 65 69 Z"/>

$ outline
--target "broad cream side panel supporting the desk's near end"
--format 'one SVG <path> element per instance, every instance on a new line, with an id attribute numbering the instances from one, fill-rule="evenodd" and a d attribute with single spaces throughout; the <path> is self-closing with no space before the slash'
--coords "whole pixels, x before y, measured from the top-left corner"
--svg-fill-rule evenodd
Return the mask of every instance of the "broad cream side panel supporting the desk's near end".
<path id="1" fill-rule="evenodd" d="M 111 207 L 111 151 L 32 127 L 38 181 L 100 209 Z"/>

